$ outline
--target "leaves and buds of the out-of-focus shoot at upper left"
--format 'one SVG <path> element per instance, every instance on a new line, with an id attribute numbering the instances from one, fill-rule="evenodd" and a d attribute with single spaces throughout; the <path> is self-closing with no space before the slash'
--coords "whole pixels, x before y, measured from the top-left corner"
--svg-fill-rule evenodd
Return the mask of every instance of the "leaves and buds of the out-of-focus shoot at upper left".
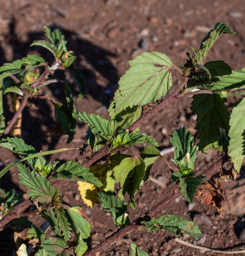
<path id="1" fill-rule="evenodd" d="M 13 93 L 13 106 L 15 112 L 20 108 L 24 97 L 31 99 L 32 97 L 40 97 L 43 94 L 42 87 L 49 85 L 52 82 L 59 82 L 63 85 L 67 105 L 57 103 L 51 99 L 55 109 L 55 119 L 59 124 L 58 132 L 68 134 L 67 143 L 69 143 L 76 132 L 76 120 L 72 118 L 72 113 L 76 113 L 75 99 L 71 92 L 70 86 L 66 81 L 50 79 L 49 75 L 53 75 L 58 69 L 68 71 L 75 79 L 79 89 L 79 99 L 85 93 L 85 82 L 81 73 L 74 68 L 75 56 L 72 51 L 66 48 L 67 41 L 65 41 L 62 33 L 55 29 L 53 32 L 47 27 L 43 28 L 44 34 L 49 41 L 37 40 L 31 46 L 37 45 L 47 48 L 55 57 L 55 62 L 51 67 L 47 65 L 45 60 L 36 55 L 27 55 L 27 57 L 15 60 L 13 63 L 5 63 L 0 67 L 0 80 L 10 76 L 13 79 L 11 82 L 4 82 L 0 86 L 1 92 Z M 40 74 L 40 67 L 44 66 L 45 71 Z M 48 98 L 47 98 L 48 99 Z M 24 101 L 22 102 L 24 104 Z M 27 102 L 25 103 L 27 105 Z M 2 94 L 0 97 L 0 133 L 5 132 L 5 117 L 3 115 L 3 101 Z M 17 130 L 17 124 L 21 124 L 21 113 L 19 113 L 19 123 L 13 124 L 11 135 L 20 136 L 21 130 Z M 15 132 L 14 132 L 15 129 Z"/>

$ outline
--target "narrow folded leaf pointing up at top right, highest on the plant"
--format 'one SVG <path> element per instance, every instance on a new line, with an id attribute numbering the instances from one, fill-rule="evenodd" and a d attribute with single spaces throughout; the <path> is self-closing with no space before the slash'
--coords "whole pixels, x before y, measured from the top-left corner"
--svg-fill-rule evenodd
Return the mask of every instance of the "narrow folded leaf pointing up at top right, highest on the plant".
<path id="1" fill-rule="evenodd" d="M 218 22 L 214 25 L 213 29 L 208 32 L 208 34 L 202 40 L 199 50 L 191 48 L 195 53 L 195 59 L 198 61 L 198 64 L 203 65 L 204 60 L 215 43 L 215 41 L 224 34 L 236 34 L 232 31 L 227 25 Z"/>

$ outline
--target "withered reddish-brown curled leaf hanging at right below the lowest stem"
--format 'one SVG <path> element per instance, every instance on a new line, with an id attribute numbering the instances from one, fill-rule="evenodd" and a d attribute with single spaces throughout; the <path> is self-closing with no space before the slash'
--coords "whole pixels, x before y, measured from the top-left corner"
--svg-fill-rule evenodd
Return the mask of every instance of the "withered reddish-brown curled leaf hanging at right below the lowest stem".
<path id="1" fill-rule="evenodd" d="M 214 206 L 218 212 L 224 215 L 225 210 L 221 206 L 221 202 L 224 200 L 224 182 L 208 181 L 202 183 L 198 188 L 195 198 L 201 204 L 205 204 L 208 207 Z"/>

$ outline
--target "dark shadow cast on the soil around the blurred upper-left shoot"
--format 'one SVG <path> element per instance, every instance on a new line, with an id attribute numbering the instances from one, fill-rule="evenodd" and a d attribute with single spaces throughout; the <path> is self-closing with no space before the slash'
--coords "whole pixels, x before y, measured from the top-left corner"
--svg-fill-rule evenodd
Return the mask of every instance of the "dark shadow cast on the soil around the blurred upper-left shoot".
<path id="1" fill-rule="evenodd" d="M 108 107 L 109 102 L 118 87 L 117 82 L 119 80 L 117 70 L 109 60 L 109 57 L 115 57 L 115 54 L 94 45 L 89 40 L 81 39 L 73 31 L 65 30 L 55 24 L 50 28 L 51 31 L 54 29 L 60 29 L 67 41 L 68 51 L 73 51 L 77 57 L 75 67 L 84 76 L 86 83 L 86 94 L 84 97 L 86 98 L 88 95 L 91 95 L 94 100 L 100 101 L 103 105 Z M 3 63 L 12 62 L 16 59 L 26 57 L 28 54 L 39 55 L 48 62 L 49 66 L 52 65 L 54 56 L 50 51 L 40 46 L 30 47 L 30 44 L 32 44 L 34 40 L 47 40 L 43 32 L 29 33 L 25 38 L 18 38 L 15 33 L 14 21 L 10 24 L 9 31 L 10 33 L 4 39 L 6 48 L 0 48 L 1 66 Z M 9 59 L 6 60 L 4 57 L 7 52 L 6 49 L 11 49 L 12 51 L 13 58 L 11 61 L 9 61 Z M 74 96 L 78 95 L 78 87 L 67 71 L 64 72 L 58 70 L 55 71 L 54 75 L 50 75 L 49 77 L 51 79 L 68 80 L 72 93 Z M 58 102 L 66 105 L 65 93 L 60 84 L 50 84 L 47 89 L 45 89 L 45 87 L 43 87 L 44 95 L 48 93 L 49 97 L 54 97 Z M 7 117 L 6 122 L 8 122 L 14 114 L 11 109 L 12 95 L 4 95 L 3 101 L 4 114 Z M 37 99 L 32 103 L 33 104 L 29 106 L 31 108 L 26 107 L 23 110 L 22 136 L 27 144 L 32 144 L 36 150 L 39 151 L 43 144 L 48 143 L 44 136 L 44 131 L 41 128 L 42 125 L 47 128 L 52 128 L 55 126 L 56 122 L 54 121 L 54 117 L 50 114 L 53 110 L 51 109 L 53 107 L 52 104 L 49 105 L 47 101 L 43 99 Z M 82 99 L 79 104 L 82 105 Z M 83 123 L 79 124 L 79 126 L 82 125 Z M 59 135 L 52 136 L 52 141 L 49 143 L 49 150 L 54 149 L 59 137 Z"/>

